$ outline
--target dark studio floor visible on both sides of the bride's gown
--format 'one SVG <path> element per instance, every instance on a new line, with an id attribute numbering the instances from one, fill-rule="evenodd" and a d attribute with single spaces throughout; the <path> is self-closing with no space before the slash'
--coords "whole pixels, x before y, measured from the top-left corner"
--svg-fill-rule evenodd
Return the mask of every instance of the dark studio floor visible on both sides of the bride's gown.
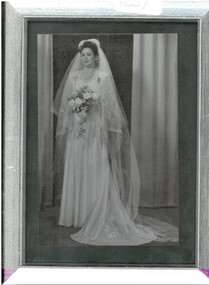
<path id="1" fill-rule="evenodd" d="M 178 208 L 140 208 L 140 214 L 159 219 L 164 222 L 168 222 L 178 227 L 179 223 L 179 211 Z M 57 224 L 59 217 L 59 207 L 52 206 L 46 207 L 43 211 L 40 211 L 39 215 L 39 244 L 44 245 L 80 245 L 71 239 L 71 234 L 78 231 L 73 227 L 63 227 Z M 147 245 L 147 244 L 145 244 Z M 172 242 L 151 242 L 149 245 L 176 245 Z"/>

